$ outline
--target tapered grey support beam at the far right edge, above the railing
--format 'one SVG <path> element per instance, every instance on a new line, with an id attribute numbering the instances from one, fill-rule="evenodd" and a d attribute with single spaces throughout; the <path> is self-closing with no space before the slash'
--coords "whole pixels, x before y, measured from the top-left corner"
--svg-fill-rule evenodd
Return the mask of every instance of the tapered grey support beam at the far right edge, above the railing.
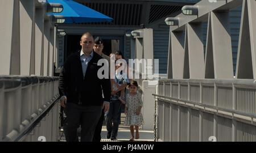
<path id="1" fill-rule="evenodd" d="M 243 1 L 237 54 L 237 79 L 256 79 L 256 1 Z"/>

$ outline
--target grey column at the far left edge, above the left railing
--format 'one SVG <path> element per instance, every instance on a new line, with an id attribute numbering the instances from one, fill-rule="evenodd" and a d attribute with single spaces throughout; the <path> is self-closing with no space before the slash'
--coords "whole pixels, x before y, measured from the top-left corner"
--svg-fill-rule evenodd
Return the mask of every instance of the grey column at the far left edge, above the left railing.
<path id="1" fill-rule="evenodd" d="M 0 2 L 0 71 L 5 75 L 20 74 L 19 1 Z"/>

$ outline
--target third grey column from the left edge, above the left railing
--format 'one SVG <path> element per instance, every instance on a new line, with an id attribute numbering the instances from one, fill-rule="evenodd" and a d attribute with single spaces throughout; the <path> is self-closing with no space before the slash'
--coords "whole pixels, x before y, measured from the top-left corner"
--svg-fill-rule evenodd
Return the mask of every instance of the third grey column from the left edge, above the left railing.
<path id="1" fill-rule="evenodd" d="M 43 75 L 42 61 L 44 50 L 44 10 L 43 8 L 36 8 L 35 11 L 35 75 Z"/>

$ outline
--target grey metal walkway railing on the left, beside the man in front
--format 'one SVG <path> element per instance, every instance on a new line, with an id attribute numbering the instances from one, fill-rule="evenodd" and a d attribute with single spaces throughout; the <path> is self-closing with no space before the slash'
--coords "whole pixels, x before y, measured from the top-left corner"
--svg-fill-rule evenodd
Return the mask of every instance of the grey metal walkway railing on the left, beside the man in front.
<path id="1" fill-rule="evenodd" d="M 59 139 L 58 80 L 0 76 L 0 141 Z"/>

